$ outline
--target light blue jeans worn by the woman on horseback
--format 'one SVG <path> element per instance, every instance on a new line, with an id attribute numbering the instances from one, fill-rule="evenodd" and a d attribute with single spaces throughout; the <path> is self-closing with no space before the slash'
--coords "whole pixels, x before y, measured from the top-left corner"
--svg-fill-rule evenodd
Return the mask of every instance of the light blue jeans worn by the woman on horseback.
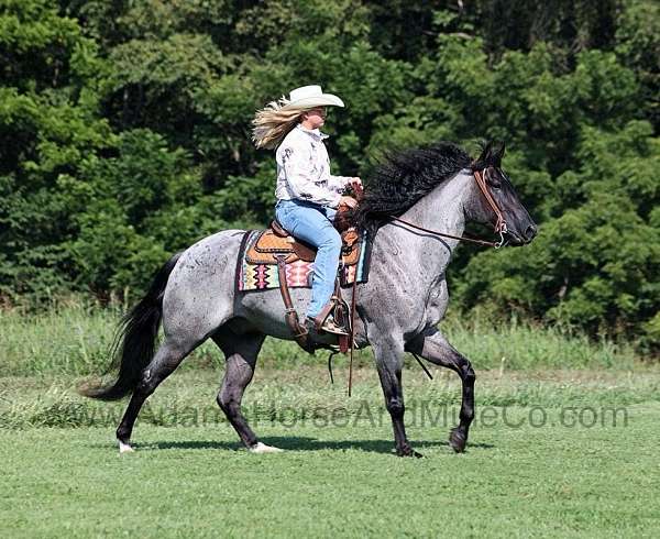
<path id="1" fill-rule="evenodd" d="M 337 210 L 302 200 L 278 200 L 275 216 L 294 238 L 318 249 L 314 261 L 311 302 L 307 316 L 315 318 L 334 292 L 334 277 L 339 267 L 341 237 L 332 224 Z"/>

